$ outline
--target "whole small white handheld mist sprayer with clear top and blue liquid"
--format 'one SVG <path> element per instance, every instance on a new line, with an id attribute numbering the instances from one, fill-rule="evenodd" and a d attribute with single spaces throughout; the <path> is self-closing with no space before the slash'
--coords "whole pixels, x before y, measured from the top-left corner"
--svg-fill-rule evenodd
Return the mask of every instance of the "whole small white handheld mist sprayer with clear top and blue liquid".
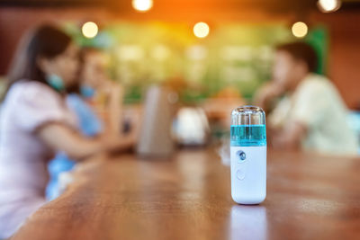
<path id="1" fill-rule="evenodd" d="M 240 204 L 258 204 L 266 198 L 266 120 L 256 106 L 231 112 L 231 196 Z"/>

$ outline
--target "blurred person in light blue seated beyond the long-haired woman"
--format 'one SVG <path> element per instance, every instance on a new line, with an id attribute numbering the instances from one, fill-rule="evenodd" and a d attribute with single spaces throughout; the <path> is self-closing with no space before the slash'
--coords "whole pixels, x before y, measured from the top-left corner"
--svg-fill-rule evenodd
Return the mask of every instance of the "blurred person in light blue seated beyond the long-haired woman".
<path id="1" fill-rule="evenodd" d="M 112 83 L 106 75 L 106 55 L 100 49 L 85 48 L 80 51 L 80 63 L 80 84 L 75 86 L 79 93 L 67 94 L 67 106 L 76 113 L 82 135 L 94 138 L 108 132 L 122 138 L 135 138 L 135 130 L 129 135 L 121 132 L 122 90 L 120 84 Z M 103 101 L 99 101 L 101 98 L 97 95 L 102 95 Z M 99 111 L 94 108 L 101 109 L 102 114 L 96 114 Z M 58 153 L 49 163 L 51 179 L 46 192 L 48 200 L 57 198 L 65 190 L 65 184 L 71 181 L 67 172 L 75 164 L 76 161 L 63 152 Z M 65 179 L 65 182 L 60 181 L 60 178 Z"/>

